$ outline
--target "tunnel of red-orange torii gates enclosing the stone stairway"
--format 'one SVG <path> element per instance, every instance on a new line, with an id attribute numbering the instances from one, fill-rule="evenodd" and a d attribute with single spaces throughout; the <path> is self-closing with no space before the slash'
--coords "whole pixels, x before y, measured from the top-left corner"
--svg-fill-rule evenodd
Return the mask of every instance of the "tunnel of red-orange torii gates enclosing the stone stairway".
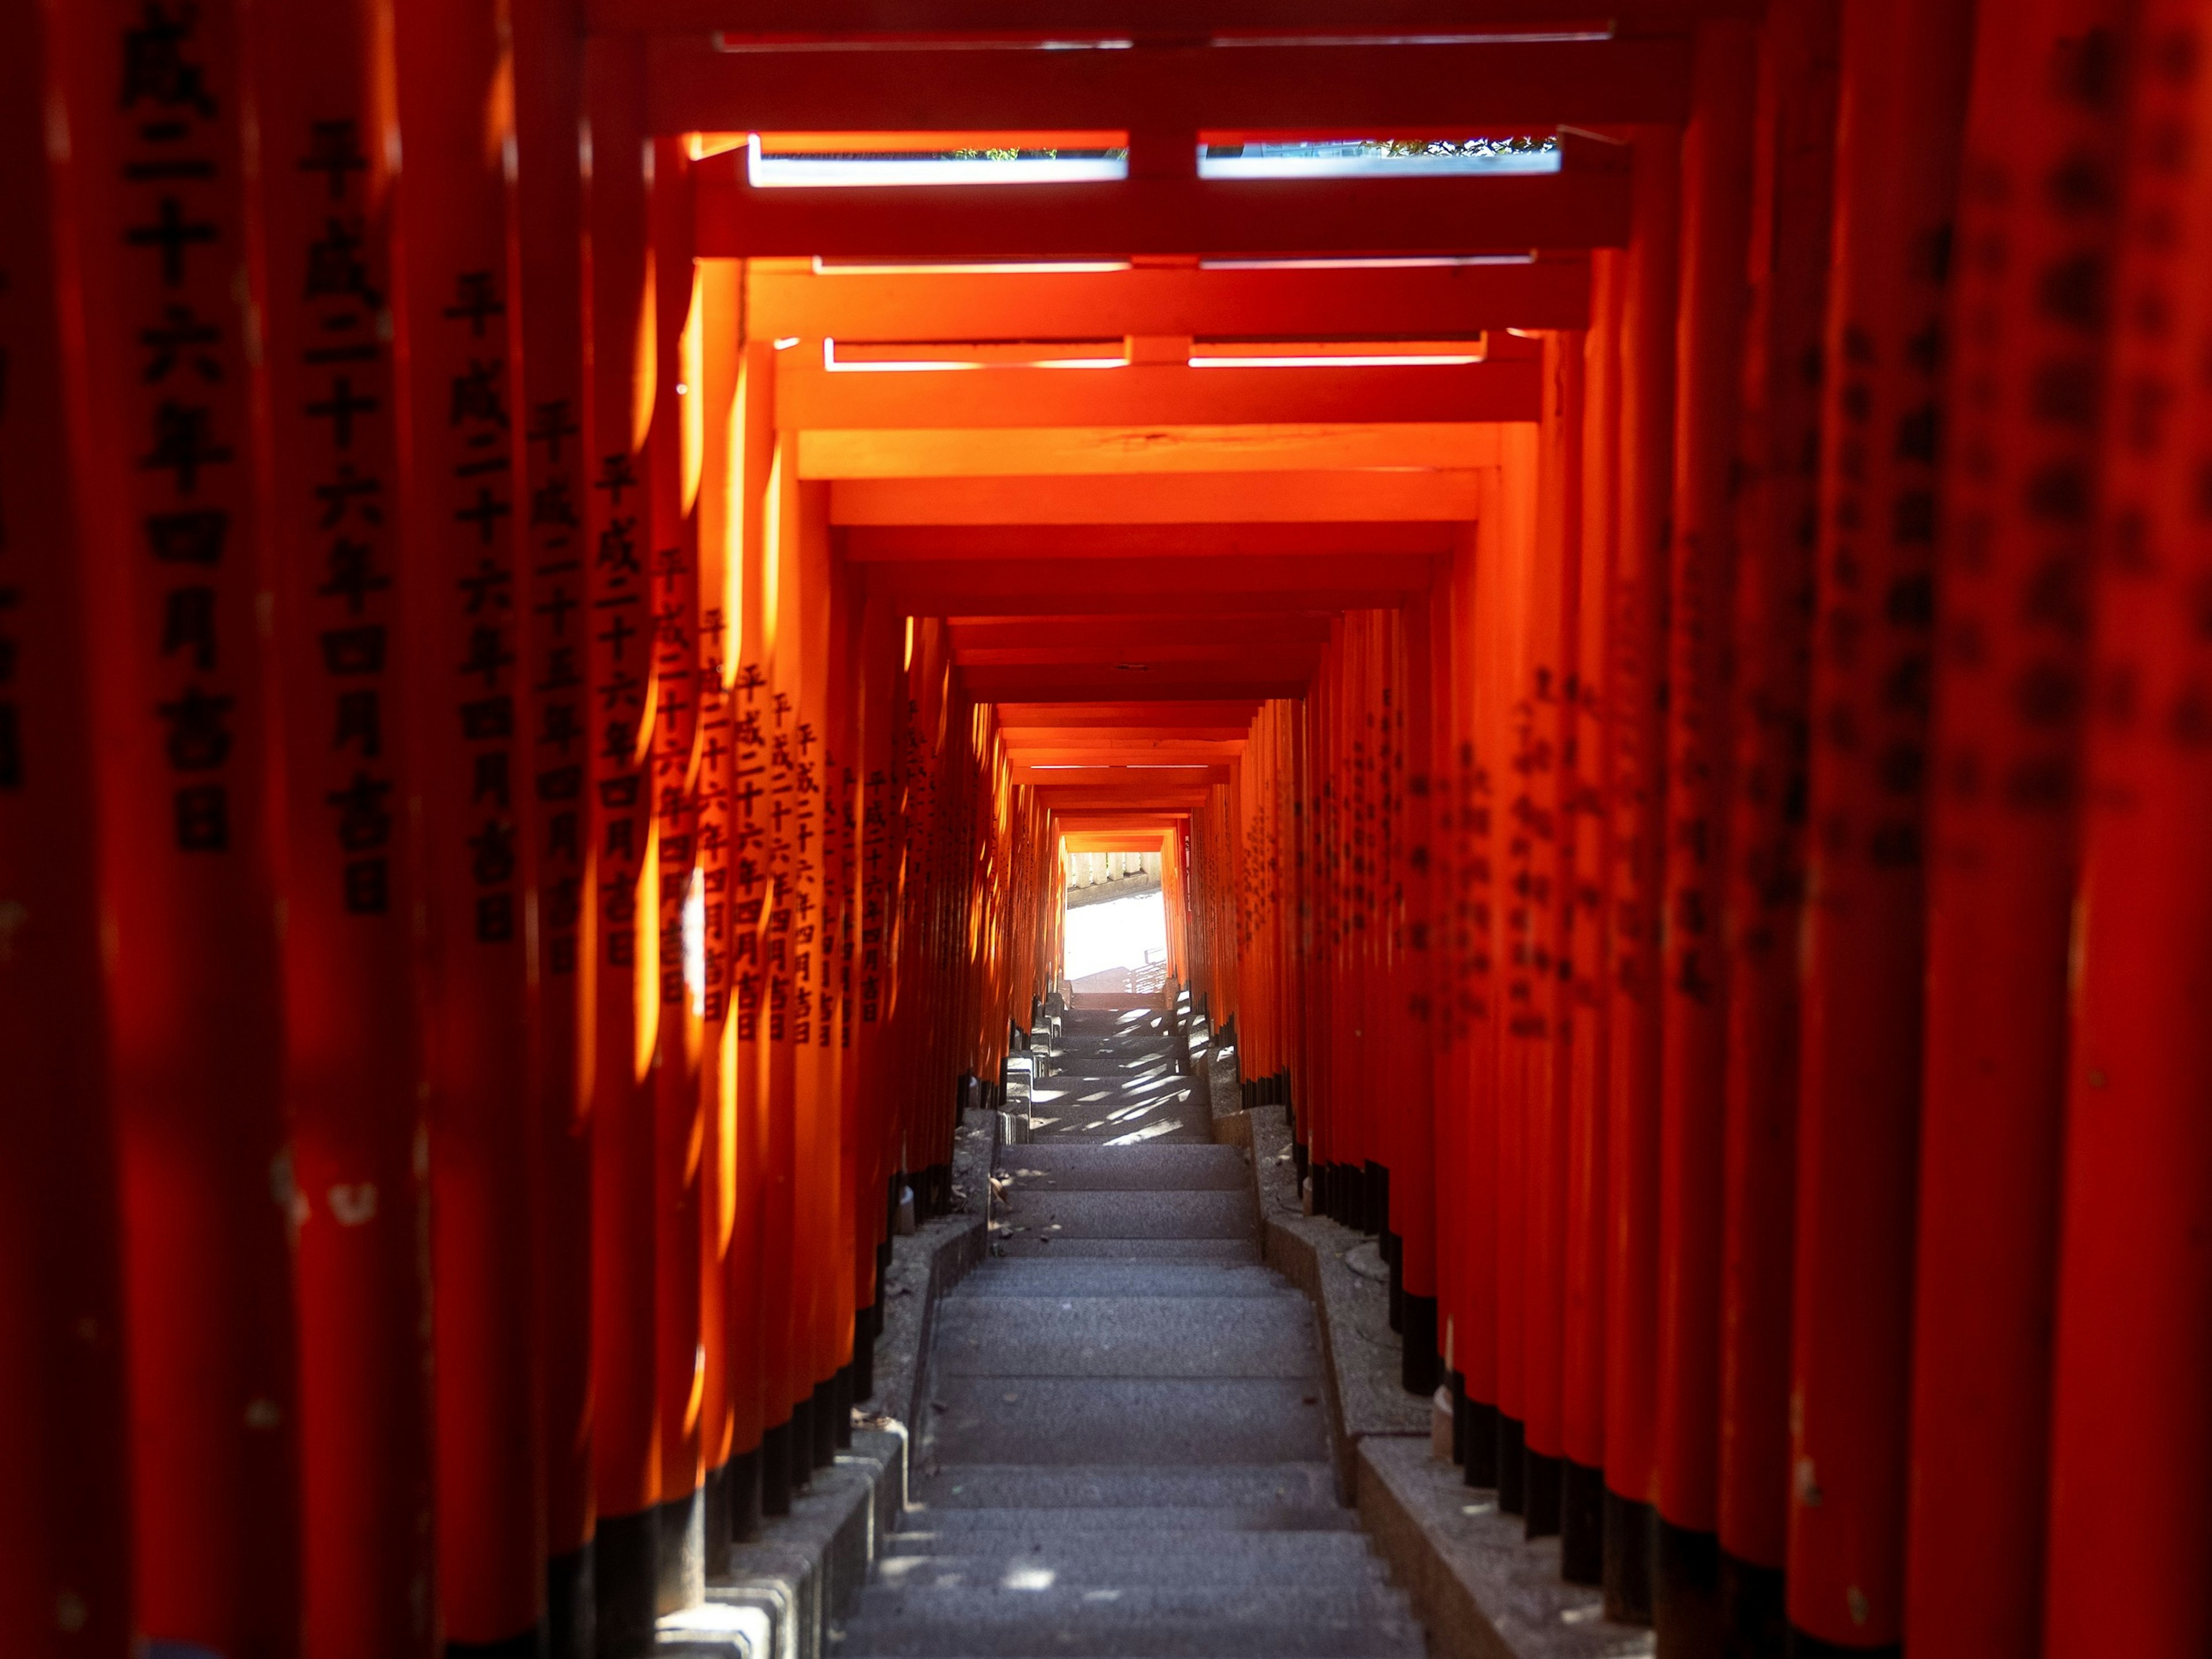
<path id="1" fill-rule="evenodd" d="M 641 1650 L 1139 849 L 1613 1617 L 2212 1646 L 2203 4 L 0 15 L 7 1652 Z"/>

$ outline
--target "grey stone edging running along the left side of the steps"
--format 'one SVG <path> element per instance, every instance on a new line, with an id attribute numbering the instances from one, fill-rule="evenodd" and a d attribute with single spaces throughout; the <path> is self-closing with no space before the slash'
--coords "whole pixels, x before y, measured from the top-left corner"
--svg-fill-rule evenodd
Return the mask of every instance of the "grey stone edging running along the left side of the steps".
<path id="1" fill-rule="evenodd" d="M 953 1144 L 953 1203 L 962 1208 L 891 1243 L 876 1391 L 863 1402 L 878 1416 L 854 1427 L 852 1451 L 814 1473 L 790 1515 L 730 1548 L 730 1571 L 706 1586 L 701 1606 L 659 1621 L 655 1659 L 823 1659 L 830 1626 L 867 1584 L 880 1540 L 907 1506 L 936 1305 L 989 1250 L 995 1130 L 998 1113 L 962 1115 Z"/>

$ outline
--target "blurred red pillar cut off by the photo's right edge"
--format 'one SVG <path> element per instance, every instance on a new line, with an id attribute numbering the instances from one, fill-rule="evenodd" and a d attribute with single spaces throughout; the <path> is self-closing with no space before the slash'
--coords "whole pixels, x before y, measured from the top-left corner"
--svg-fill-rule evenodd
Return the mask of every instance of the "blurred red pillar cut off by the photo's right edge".
<path id="1" fill-rule="evenodd" d="M 2093 566 L 2044 1646 L 2205 1652 L 2212 1077 L 2203 858 L 2212 175 L 2201 7 L 2146 4 Z M 2024 641 L 2022 641 L 2024 644 Z M 1918 1559 L 1916 1559 L 1918 1566 Z"/>

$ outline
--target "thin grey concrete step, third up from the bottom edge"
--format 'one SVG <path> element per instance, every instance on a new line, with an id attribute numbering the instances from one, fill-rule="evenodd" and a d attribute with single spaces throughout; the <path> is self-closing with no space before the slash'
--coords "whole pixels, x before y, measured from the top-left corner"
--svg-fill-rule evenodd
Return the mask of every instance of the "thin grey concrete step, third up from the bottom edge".
<path id="1" fill-rule="evenodd" d="M 1305 1504 L 1325 1509 L 1345 1526 L 1358 1520 L 1336 1502 L 1336 1469 L 1327 1462 L 1274 1462 L 1248 1469 L 1179 1469 L 1060 1464 L 953 1464 L 942 1473 L 916 1473 L 911 1502 L 938 1524 L 953 1513 L 1024 1509 L 1252 1509 Z M 1004 1520 L 1004 1517 L 1000 1517 Z M 1000 1522 L 993 1522 L 1000 1524 Z M 1115 1526 L 1135 1526 L 1128 1517 Z M 1150 1531 L 1146 1524 L 1144 1531 Z"/>

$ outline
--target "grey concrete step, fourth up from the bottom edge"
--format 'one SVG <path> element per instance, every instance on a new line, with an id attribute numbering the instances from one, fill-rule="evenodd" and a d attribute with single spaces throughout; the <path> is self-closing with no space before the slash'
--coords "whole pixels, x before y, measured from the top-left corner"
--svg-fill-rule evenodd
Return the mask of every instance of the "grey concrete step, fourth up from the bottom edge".
<path id="1" fill-rule="evenodd" d="M 1329 1455 L 1318 1380 L 980 1378 L 931 1387 L 933 1464 L 1254 1464 Z"/>

